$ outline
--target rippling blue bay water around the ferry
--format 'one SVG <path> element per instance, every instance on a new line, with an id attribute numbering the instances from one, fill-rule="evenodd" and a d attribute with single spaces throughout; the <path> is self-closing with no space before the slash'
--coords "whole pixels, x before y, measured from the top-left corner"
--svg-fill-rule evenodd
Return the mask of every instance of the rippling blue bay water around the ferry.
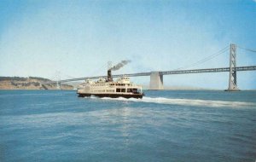
<path id="1" fill-rule="evenodd" d="M 255 161 L 256 92 L 0 90 L 0 161 Z"/>

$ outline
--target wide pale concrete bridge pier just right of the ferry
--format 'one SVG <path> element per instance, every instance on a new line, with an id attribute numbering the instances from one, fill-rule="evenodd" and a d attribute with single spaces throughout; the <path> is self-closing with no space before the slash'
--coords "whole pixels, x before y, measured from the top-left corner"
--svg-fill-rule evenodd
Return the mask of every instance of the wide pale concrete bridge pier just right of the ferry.
<path id="1" fill-rule="evenodd" d="M 163 74 L 151 72 L 149 90 L 164 90 Z"/>

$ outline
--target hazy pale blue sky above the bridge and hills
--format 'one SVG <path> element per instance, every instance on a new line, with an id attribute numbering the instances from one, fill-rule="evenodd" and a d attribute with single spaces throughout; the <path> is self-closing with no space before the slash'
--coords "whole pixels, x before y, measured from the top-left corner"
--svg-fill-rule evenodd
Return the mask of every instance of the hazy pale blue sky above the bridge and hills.
<path id="1" fill-rule="evenodd" d="M 229 51 L 189 65 L 230 43 L 256 49 L 255 1 L 0 1 L 0 76 L 104 75 L 108 61 L 126 59 L 131 63 L 114 74 L 229 67 Z M 253 65 L 256 53 L 237 49 L 237 66 Z M 228 78 L 228 72 L 166 75 L 164 82 L 225 89 Z M 256 89 L 256 71 L 238 72 L 238 86 Z"/>

